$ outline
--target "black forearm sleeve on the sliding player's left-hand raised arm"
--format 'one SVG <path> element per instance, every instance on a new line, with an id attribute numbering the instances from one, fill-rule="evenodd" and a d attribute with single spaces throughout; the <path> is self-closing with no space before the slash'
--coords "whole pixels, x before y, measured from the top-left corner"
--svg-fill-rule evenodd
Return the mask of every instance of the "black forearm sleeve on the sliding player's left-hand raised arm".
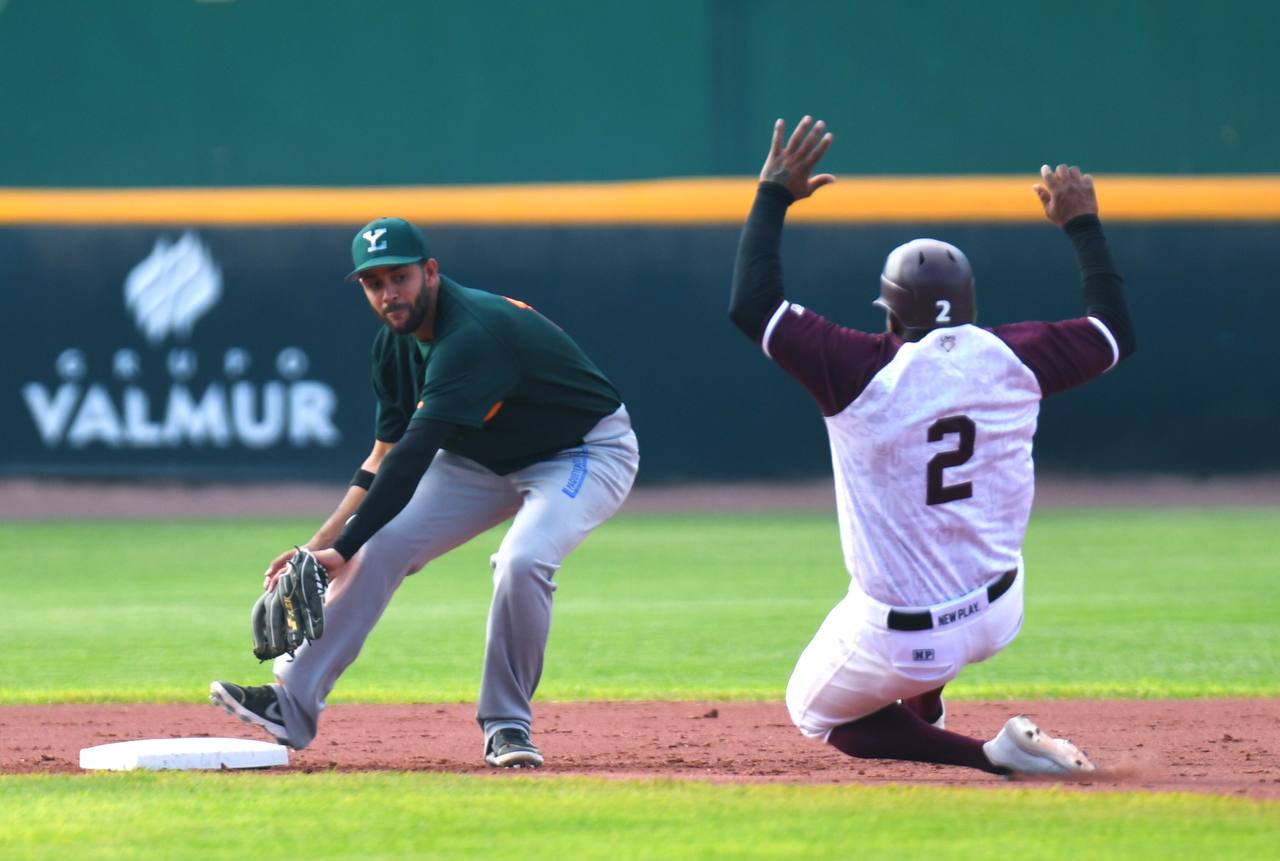
<path id="1" fill-rule="evenodd" d="M 782 186 L 760 183 L 737 243 L 728 316 L 755 343 L 782 302 L 782 223 L 794 201 Z"/>

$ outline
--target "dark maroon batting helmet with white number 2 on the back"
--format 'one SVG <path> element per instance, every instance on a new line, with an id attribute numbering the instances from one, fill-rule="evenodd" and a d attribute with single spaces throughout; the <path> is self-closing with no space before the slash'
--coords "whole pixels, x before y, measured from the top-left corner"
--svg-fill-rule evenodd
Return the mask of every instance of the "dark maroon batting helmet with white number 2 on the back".
<path id="1" fill-rule="evenodd" d="M 877 304 L 908 333 L 977 320 L 973 267 L 964 252 L 938 239 L 911 239 L 890 252 Z"/>

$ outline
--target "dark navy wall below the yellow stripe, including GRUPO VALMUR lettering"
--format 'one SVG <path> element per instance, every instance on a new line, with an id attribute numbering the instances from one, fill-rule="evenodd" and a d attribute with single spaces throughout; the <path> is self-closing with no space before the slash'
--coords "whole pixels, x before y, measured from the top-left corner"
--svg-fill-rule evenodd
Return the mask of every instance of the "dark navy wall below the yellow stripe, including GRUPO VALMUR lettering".
<path id="1" fill-rule="evenodd" d="M 751 182 L 739 193 L 745 210 Z M 429 234 L 449 275 L 531 302 L 596 358 L 631 407 L 645 480 L 804 478 L 829 468 L 808 395 L 726 320 L 736 225 Z M 983 322 L 1080 312 L 1069 242 L 1033 221 L 799 219 L 783 242 L 790 296 L 878 329 L 869 302 L 883 255 L 920 234 L 969 253 Z M 1280 420 L 1270 338 L 1280 315 L 1276 223 L 1117 219 L 1108 234 L 1139 352 L 1046 404 L 1039 464 L 1280 470 L 1267 432 Z M 9 288 L 0 472 L 346 478 L 371 444 L 376 328 L 358 289 L 342 281 L 349 235 L 333 225 L 0 229 Z"/>

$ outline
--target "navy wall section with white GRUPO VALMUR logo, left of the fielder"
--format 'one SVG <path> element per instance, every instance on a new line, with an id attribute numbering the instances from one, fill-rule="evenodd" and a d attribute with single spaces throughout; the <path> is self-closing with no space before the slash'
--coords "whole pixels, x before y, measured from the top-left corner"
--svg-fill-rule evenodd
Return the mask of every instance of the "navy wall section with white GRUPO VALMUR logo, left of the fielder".
<path id="1" fill-rule="evenodd" d="M 346 232 L 314 233 L 0 232 L 0 470 L 349 475 L 371 443 L 376 321 L 342 283 Z"/>

